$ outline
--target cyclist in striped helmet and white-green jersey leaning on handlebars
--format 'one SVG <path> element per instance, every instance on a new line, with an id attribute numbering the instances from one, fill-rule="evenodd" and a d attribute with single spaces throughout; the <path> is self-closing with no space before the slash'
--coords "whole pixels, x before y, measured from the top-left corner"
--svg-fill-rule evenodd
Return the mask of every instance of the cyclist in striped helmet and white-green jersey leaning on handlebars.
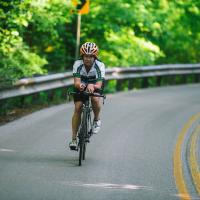
<path id="1" fill-rule="evenodd" d="M 102 93 L 105 79 L 105 65 L 98 60 L 98 47 L 93 42 L 86 42 L 80 48 L 81 58 L 73 65 L 73 77 L 75 91 L 88 91 L 89 93 Z M 84 97 L 81 94 L 74 95 L 74 113 L 72 116 L 72 141 L 69 146 L 71 150 L 77 148 L 77 131 L 81 121 L 81 108 Z M 93 133 L 98 133 L 101 126 L 99 97 L 91 97 L 94 113 Z"/>

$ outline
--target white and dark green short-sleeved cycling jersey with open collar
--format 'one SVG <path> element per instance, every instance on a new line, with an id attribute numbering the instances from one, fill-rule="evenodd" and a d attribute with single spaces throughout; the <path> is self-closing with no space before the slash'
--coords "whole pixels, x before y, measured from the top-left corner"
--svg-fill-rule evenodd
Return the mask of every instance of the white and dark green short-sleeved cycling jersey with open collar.
<path id="1" fill-rule="evenodd" d="M 85 84 L 103 81 L 105 79 L 105 65 L 96 59 L 90 71 L 87 72 L 83 60 L 77 60 L 73 65 L 73 76 L 81 78 L 81 82 Z"/>

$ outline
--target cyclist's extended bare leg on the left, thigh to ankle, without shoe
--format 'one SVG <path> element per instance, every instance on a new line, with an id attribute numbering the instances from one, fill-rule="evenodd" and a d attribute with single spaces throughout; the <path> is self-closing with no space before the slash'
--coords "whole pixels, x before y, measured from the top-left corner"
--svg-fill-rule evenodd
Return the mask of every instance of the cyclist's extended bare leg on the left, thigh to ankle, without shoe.
<path id="1" fill-rule="evenodd" d="M 74 102 L 75 108 L 74 113 L 72 116 L 72 140 L 76 139 L 78 127 L 81 121 L 81 110 L 82 110 L 82 101 L 75 101 Z"/>

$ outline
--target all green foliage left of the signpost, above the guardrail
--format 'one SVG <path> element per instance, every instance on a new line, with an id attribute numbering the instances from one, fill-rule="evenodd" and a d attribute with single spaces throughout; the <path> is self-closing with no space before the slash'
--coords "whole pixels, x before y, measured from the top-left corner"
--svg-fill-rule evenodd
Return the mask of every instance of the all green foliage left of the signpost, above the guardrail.
<path id="1" fill-rule="evenodd" d="M 64 0 L 0 1 L 0 88 L 22 77 L 64 70 L 69 9 Z"/>

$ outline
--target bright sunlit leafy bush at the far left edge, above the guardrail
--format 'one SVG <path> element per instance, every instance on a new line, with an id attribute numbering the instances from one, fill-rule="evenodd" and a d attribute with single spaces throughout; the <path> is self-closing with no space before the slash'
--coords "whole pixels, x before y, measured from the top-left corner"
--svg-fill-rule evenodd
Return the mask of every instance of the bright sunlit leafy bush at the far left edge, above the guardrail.
<path id="1" fill-rule="evenodd" d="M 30 19 L 30 13 L 26 12 L 28 1 L 0 2 L 0 5 L 0 87 L 4 87 L 7 80 L 10 85 L 21 77 L 44 73 L 42 66 L 47 61 L 31 52 L 20 35 Z"/>

